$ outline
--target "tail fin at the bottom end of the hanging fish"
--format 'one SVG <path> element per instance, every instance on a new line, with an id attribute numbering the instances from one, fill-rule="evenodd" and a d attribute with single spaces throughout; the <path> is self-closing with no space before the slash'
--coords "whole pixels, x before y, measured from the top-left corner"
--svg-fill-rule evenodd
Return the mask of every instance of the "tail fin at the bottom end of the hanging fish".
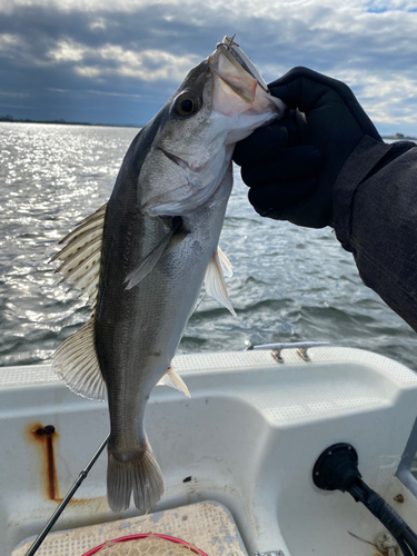
<path id="1" fill-rule="evenodd" d="M 163 477 L 152 449 L 145 439 L 143 449 L 120 454 L 109 449 L 107 467 L 107 499 L 113 512 L 135 505 L 148 513 L 163 495 Z"/>

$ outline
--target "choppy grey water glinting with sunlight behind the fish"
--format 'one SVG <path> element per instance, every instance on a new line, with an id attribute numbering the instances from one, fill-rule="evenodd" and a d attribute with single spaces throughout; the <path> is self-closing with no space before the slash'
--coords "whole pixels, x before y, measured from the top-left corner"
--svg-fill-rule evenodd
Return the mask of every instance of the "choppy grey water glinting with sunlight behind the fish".
<path id="1" fill-rule="evenodd" d="M 76 222 L 105 203 L 138 130 L 0 123 L 0 365 L 41 363 L 88 309 L 48 259 Z M 260 218 L 236 172 L 220 245 L 235 276 L 238 319 L 210 299 L 191 317 L 180 351 L 329 340 L 417 369 L 417 335 L 358 276 L 330 229 Z"/>

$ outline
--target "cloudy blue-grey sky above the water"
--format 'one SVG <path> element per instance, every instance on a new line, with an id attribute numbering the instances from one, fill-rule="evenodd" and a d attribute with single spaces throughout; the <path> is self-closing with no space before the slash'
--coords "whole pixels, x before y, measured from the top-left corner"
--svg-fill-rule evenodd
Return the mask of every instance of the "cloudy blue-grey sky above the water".
<path id="1" fill-rule="evenodd" d="M 145 125 L 234 33 L 267 82 L 306 66 L 417 136 L 417 0 L 0 0 L 0 116 Z"/>

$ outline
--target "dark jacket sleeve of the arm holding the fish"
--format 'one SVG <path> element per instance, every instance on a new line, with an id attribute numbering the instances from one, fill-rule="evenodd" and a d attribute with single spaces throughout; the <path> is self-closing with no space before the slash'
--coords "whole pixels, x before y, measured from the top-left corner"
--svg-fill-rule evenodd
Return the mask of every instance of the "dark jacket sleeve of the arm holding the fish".
<path id="1" fill-rule="evenodd" d="M 334 189 L 334 228 L 359 275 L 417 331 L 417 146 L 365 137 Z"/>

